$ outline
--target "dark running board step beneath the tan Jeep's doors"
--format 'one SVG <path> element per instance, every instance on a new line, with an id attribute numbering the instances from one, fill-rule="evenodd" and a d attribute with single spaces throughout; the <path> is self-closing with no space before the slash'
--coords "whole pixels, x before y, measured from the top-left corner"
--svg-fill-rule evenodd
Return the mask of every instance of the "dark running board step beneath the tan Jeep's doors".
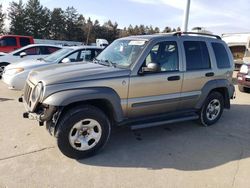
<path id="1" fill-rule="evenodd" d="M 192 116 L 187 116 L 187 117 L 181 117 L 181 118 L 175 118 L 175 119 L 169 119 L 169 120 L 163 120 L 163 121 L 157 121 L 157 122 L 151 122 L 151 123 L 132 125 L 130 128 L 132 130 L 144 129 L 147 127 L 156 127 L 156 126 L 160 126 L 160 125 L 165 125 L 165 124 L 170 124 L 170 123 L 178 123 L 178 122 L 182 122 L 182 121 L 190 121 L 190 120 L 196 120 L 196 119 L 199 119 L 199 116 L 192 115 Z"/>

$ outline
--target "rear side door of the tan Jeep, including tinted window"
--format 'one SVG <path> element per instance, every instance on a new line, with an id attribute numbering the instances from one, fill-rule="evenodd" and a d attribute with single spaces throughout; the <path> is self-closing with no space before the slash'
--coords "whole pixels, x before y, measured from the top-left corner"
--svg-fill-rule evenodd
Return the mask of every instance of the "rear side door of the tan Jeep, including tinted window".
<path id="1" fill-rule="evenodd" d="M 203 86 L 214 77 L 208 43 L 194 38 L 181 39 L 184 51 L 184 78 L 181 109 L 192 109 L 197 103 Z"/>

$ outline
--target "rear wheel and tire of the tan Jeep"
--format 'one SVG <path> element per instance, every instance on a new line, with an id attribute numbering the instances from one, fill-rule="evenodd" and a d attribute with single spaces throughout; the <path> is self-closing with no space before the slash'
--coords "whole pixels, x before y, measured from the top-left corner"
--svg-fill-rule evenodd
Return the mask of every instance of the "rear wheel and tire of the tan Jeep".
<path id="1" fill-rule="evenodd" d="M 221 117 L 224 110 L 224 98 L 219 92 L 212 92 L 205 100 L 200 112 L 199 123 L 203 126 L 215 124 Z"/>

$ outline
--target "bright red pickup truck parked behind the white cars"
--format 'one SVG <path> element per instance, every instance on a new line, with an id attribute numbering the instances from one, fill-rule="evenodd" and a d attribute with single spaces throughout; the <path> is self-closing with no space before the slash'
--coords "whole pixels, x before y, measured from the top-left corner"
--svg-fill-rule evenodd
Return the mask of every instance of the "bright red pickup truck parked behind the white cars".
<path id="1" fill-rule="evenodd" d="M 2 35 L 0 36 L 0 52 L 12 52 L 29 44 L 34 44 L 31 36 Z"/>

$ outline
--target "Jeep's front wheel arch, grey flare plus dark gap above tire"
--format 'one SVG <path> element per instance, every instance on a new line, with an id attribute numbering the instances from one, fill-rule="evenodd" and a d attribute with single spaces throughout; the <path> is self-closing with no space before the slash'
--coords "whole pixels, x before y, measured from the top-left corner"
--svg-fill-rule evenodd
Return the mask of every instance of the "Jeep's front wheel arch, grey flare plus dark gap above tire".
<path id="1" fill-rule="evenodd" d="M 62 107 L 61 114 L 76 106 L 93 105 L 101 109 L 110 120 L 121 122 L 124 119 L 119 95 L 106 87 L 60 91 L 48 96 L 43 103 Z"/>

